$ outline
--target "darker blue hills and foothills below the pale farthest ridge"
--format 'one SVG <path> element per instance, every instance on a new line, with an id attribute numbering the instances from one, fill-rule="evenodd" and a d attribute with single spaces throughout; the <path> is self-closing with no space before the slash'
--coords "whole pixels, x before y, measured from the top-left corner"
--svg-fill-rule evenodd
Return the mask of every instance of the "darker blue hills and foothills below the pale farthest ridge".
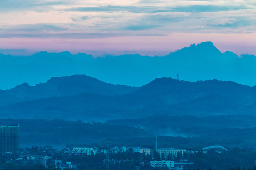
<path id="1" fill-rule="evenodd" d="M 73 75 L 0 91 L 0 104 L 0 117 L 12 118 L 3 123 L 20 124 L 24 147 L 100 144 L 106 138 L 154 145 L 156 134 L 170 147 L 184 147 L 181 141 L 194 147 L 255 145 L 256 86 L 231 81 L 164 77 L 137 88 Z"/>

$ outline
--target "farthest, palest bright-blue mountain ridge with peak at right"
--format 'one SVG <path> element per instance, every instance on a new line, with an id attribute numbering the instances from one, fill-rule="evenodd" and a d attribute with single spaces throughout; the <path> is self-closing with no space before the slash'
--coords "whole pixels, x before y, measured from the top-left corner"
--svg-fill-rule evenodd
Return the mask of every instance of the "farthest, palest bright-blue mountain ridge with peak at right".
<path id="1" fill-rule="evenodd" d="M 253 86 L 256 84 L 255 65 L 254 55 L 221 53 L 212 42 L 193 44 L 163 57 L 134 54 L 93 58 L 70 52 L 0 55 L 0 89 L 10 89 L 24 82 L 36 85 L 51 77 L 74 74 L 138 87 L 155 78 L 175 78 L 177 72 L 180 79 L 187 81 L 218 79 Z"/>

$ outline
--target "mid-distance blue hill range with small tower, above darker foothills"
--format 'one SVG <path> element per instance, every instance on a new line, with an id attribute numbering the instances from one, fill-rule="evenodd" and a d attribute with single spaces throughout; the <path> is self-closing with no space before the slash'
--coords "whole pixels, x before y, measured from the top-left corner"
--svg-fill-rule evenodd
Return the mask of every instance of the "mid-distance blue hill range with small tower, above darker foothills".
<path id="1" fill-rule="evenodd" d="M 160 114 L 253 115 L 256 109 L 256 87 L 216 79 L 189 82 L 157 78 L 136 88 L 74 75 L 36 86 L 24 83 L 3 92 L 27 100 L 0 107 L 1 117 L 17 119 L 106 121 Z"/>

